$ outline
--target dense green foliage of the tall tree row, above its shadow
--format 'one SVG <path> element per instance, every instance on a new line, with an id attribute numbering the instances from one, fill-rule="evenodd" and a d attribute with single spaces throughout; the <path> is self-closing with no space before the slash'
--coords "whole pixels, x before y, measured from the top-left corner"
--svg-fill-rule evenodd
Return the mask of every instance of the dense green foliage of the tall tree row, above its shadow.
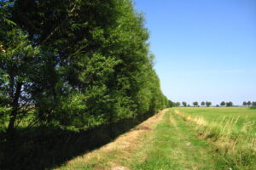
<path id="1" fill-rule="evenodd" d="M 1 1 L 0 10 L 8 133 L 20 122 L 86 129 L 168 105 L 130 0 Z"/>

